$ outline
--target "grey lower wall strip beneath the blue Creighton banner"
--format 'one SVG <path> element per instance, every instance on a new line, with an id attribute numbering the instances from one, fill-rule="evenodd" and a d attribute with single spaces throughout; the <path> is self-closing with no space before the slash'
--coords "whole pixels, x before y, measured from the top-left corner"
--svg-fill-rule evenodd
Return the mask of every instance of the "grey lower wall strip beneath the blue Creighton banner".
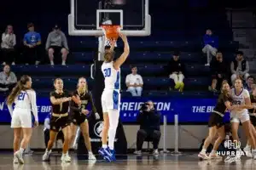
<path id="1" fill-rule="evenodd" d="M 136 148 L 136 136 L 139 126 L 124 125 L 125 136 L 127 139 L 128 149 Z M 32 134 L 31 148 L 44 149 L 44 126 L 39 126 L 34 129 Z M 168 149 L 174 148 L 174 127 L 167 125 L 166 147 Z M 163 127 L 161 126 L 162 137 L 160 140 L 160 148 L 163 146 Z M 208 128 L 206 125 L 181 125 L 179 127 L 179 148 L 180 149 L 198 149 L 201 140 L 207 136 Z M 0 126 L 0 150 L 12 149 L 13 147 L 13 130 L 9 125 Z M 242 145 L 246 144 L 244 135 L 241 133 Z M 147 144 L 144 143 L 144 148 Z M 152 147 L 152 146 L 151 146 Z"/>

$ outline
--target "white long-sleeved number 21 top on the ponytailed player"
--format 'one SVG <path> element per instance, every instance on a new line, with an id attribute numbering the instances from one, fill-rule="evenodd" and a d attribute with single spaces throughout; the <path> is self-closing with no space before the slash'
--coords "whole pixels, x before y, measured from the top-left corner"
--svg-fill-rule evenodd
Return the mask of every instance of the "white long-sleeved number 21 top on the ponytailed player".
<path id="1" fill-rule="evenodd" d="M 11 115 L 13 115 L 12 105 L 8 105 Z M 15 98 L 15 110 L 28 110 L 32 111 L 35 121 L 38 122 L 38 106 L 36 92 L 33 90 L 21 91 Z"/>

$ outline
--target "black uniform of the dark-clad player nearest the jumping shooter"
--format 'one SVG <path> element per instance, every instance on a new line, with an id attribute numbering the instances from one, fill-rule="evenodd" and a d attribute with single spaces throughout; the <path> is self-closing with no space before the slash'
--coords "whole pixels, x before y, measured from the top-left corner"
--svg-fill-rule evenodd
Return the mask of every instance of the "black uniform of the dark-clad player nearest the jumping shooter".
<path id="1" fill-rule="evenodd" d="M 79 96 L 82 102 L 81 105 L 77 105 L 74 101 L 70 102 L 70 113 L 71 113 L 70 116 L 72 120 L 71 122 L 79 126 L 81 123 L 83 123 L 86 120 L 86 115 L 84 115 L 81 111 L 88 110 L 88 105 L 90 104 L 92 111 L 96 113 L 96 107 L 93 104 L 93 99 L 90 92 L 79 94 L 79 92 L 76 90 L 75 92 L 73 92 L 72 96 L 75 96 L 75 97 Z"/>

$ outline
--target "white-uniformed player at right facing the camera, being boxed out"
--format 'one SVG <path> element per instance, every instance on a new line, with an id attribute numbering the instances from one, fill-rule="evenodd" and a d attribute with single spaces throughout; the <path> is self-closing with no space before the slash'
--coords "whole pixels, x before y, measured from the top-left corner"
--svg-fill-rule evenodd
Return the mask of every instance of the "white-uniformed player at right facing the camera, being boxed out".
<path id="1" fill-rule="evenodd" d="M 232 137 L 234 141 L 239 142 L 237 132 L 239 124 L 241 122 L 242 127 L 244 129 L 244 133 L 246 134 L 250 144 L 252 144 L 253 157 L 256 159 L 256 144 L 252 133 L 252 123 L 250 121 L 250 116 L 247 110 L 252 108 L 251 99 L 247 89 L 242 88 L 241 79 L 236 79 L 235 88 L 231 90 L 231 98 L 233 99 L 233 105 L 241 105 L 241 107 L 239 107 L 238 109 L 230 111 Z M 237 151 L 241 152 L 240 149 Z M 238 155 L 238 157 L 240 156 Z M 225 161 L 228 161 L 228 159 L 230 159 L 230 157 L 227 157 Z"/>

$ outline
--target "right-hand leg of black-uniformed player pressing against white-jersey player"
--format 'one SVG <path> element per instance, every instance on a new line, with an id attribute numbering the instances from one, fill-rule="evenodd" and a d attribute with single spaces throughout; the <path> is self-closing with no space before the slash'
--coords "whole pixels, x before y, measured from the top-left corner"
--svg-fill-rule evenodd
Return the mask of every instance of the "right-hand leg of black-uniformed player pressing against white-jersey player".
<path id="1" fill-rule="evenodd" d="M 218 127 L 217 128 L 217 133 L 218 133 L 218 139 L 215 140 L 214 144 L 213 144 L 213 148 L 212 148 L 212 152 L 210 153 L 210 158 L 211 159 L 218 159 L 218 158 L 222 158 L 221 156 L 218 156 L 216 154 L 217 150 L 218 150 L 218 146 L 219 144 L 221 144 L 224 139 L 225 139 L 225 129 L 224 126 L 222 127 Z"/>

